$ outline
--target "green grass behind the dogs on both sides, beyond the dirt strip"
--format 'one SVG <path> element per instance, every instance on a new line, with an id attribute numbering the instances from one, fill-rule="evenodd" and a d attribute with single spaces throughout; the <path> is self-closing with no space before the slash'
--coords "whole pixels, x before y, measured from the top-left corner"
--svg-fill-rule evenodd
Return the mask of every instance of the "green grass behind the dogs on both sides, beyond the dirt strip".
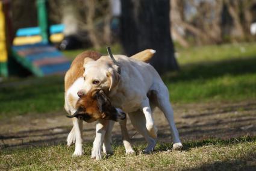
<path id="1" fill-rule="evenodd" d="M 119 45 L 112 46 L 119 54 Z M 242 50 L 241 50 L 242 49 Z M 82 50 L 64 52 L 74 58 Z M 105 47 L 101 49 L 106 54 Z M 163 76 L 173 103 L 256 99 L 256 43 L 178 49 L 179 72 Z M 62 76 L 10 79 L 0 85 L 0 119 L 63 111 Z"/>

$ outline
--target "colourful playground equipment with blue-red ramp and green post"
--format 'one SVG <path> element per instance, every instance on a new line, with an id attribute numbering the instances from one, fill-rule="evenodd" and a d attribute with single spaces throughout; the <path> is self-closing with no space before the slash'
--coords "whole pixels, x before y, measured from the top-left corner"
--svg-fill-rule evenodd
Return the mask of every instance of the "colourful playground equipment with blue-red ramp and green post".
<path id="1" fill-rule="evenodd" d="M 50 42 L 56 43 L 63 39 L 63 25 L 48 27 L 46 0 L 37 0 L 37 16 L 39 27 L 20 28 L 17 30 L 10 46 L 9 56 L 36 76 L 55 75 L 66 72 L 70 61 L 61 54 Z M 0 1 L 1 3 L 1 1 Z M 2 4 L 2 3 L 1 3 Z M 4 13 L 0 4 L 0 48 L 5 55 L 0 54 L 0 75 L 8 76 L 7 43 L 5 41 Z M 1 13 L 2 12 L 2 13 Z M 1 19 L 2 17 L 2 19 Z M 49 28 L 49 30 L 48 30 Z M 50 35 L 49 35 L 49 34 Z"/>

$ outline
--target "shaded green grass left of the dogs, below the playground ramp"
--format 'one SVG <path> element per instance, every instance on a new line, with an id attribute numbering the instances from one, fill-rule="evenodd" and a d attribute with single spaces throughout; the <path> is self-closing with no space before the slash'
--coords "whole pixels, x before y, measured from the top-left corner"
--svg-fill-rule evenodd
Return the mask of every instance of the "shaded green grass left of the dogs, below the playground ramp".
<path id="1" fill-rule="evenodd" d="M 0 119 L 64 108 L 62 76 L 17 79 L 0 85 Z"/>

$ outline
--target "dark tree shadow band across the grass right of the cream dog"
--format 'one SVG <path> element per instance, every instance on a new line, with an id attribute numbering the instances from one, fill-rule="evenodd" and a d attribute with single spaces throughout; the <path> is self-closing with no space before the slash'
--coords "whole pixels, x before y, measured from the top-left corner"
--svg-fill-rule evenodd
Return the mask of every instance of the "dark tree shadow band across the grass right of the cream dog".
<path id="1" fill-rule="evenodd" d="M 222 75 L 243 75 L 256 72 L 256 57 L 223 60 L 211 63 L 187 64 L 180 72 L 170 73 L 163 78 L 166 81 L 191 81 L 193 79 L 211 79 Z"/>

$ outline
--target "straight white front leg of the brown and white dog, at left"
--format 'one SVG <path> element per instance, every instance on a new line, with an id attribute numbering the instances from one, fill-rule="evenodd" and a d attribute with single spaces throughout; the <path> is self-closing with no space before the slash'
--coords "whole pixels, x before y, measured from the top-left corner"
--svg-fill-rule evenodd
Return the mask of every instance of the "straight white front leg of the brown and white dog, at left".
<path id="1" fill-rule="evenodd" d="M 73 129 L 75 130 L 75 152 L 73 156 L 83 155 L 83 120 L 77 119 L 76 117 L 72 118 Z"/>

